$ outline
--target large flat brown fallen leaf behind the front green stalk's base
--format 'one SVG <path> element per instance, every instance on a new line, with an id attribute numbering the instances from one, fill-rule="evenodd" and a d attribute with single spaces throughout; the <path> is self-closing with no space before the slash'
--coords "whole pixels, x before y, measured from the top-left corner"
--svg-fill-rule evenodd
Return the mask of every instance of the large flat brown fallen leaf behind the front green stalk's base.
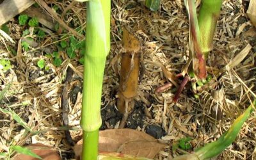
<path id="1" fill-rule="evenodd" d="M 76 156 L 81 155 L 83 140 L 74 147 Z M 154 158 L 164 147 L 145 132 L 133 129 L 108 129 L 99 133 L 99 152 L 118 152 L 137 157 Z"/>

